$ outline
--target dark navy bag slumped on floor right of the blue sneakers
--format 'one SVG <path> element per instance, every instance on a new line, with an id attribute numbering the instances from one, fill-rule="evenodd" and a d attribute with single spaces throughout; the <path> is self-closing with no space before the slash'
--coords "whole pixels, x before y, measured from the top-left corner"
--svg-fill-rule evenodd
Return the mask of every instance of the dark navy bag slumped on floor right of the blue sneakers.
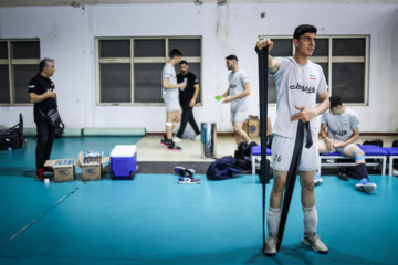
<path id="1" fill-rule="evenodd" d="M 240 172 L 242 172 L 242 169 L 237 166 L 237 160 L 229 156 L 212 162 L 209 166 L 206 176 L 211 180 L 226 180 Z"/>

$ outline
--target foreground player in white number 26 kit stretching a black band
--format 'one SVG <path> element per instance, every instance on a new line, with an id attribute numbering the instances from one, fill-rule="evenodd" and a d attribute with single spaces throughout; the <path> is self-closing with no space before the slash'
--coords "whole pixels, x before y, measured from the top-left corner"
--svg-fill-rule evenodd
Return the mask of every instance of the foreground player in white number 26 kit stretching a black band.
<path id="1" fill-rule="evenodd" d="M 273 129 L 272 162 L 274 182 L 271 191 L 268 211 L 269 236 L 264 246 L 264 254 L 276 255 L 277 232 L 281 220 L 281 205 L 286 183 L 287 171 L 292 162 L 293 149 L 296 142 L 298 120 L 310 123 L 310 131 L 302 151 L 298 166 L 301 201 L 304 211 L 304 236 L 302 243 L 315 252 L 326 254 L 327 246 L 316 234 L 317 212 L 315 209 L 314 178 L 318 168 L 317 124 L 316 115 L 329 107 L 327 84 L 320 65 L 308 57 L 315 49 L 316 28 L 308 24 L 300 25 L 293 34 L 294 55 L 287 59 L 269 56 L 269 72 L 276 82 L 277 105 L 276 120 Z M 273 47 L 270 39 L 258 41 L 258 49 Z M 316 94 L 321 104 L 316 106 Z M 308 128 L 308 127 L 307 127 Z M 313 145 L 310 146 L 311 139 Z M 308 144 L 308 145 L 307 145 Z M 308 146 L 306 148 L 305 146 Z"/>

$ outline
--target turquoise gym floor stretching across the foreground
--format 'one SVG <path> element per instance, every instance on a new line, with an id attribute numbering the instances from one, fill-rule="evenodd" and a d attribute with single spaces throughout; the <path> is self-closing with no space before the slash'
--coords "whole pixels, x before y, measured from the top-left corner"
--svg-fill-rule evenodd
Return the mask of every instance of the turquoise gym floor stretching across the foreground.
<path id="1" fill-rule="evenodd" d="M 56 139 L 52 158 L 91 149 L 109 155 L 116 144 L 138 140 Z M 324 176 L 316 206 L 327 255 L 301 244 L 297 182 L 281 252 L 269 258 L 261 253 L 256 176 L 208 181 L 198 174 L 197 186 L 149 173 L 45 184 L 34 178 L 34 148 L 29 138 L 25 147 L 0 152 L 0 264 L 398 264 L 397 177 L 370 176 L 378 189 L 365 194 L 354 180 Z"/>

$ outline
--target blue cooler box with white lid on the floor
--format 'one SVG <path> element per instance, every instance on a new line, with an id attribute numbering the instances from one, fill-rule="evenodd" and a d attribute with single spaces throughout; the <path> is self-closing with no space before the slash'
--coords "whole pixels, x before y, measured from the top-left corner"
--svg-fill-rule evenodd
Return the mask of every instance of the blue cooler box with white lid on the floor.
<path id="1" fill-rule="evenodd" d="M 134 179 L 137 171 L 135 145 L 117 145 L 111 151 L 111 179 Z"/>

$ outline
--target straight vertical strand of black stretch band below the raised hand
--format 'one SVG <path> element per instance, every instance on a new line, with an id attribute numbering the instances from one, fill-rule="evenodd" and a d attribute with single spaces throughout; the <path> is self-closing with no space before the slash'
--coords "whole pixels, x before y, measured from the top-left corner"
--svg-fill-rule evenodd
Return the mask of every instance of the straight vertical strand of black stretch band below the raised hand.
<path id="1" fill-rule="evenodd" d="M 265 183 L 270 183 L 266 163 L 266 120 L 268 120 L 268 56 L 269 49 L 255 47 L 259 57 L 259 96 L 260 96 L 260 181 L 262 183 L 262 208 L 263 208 L 263 246 L 265 245 Z"/>

